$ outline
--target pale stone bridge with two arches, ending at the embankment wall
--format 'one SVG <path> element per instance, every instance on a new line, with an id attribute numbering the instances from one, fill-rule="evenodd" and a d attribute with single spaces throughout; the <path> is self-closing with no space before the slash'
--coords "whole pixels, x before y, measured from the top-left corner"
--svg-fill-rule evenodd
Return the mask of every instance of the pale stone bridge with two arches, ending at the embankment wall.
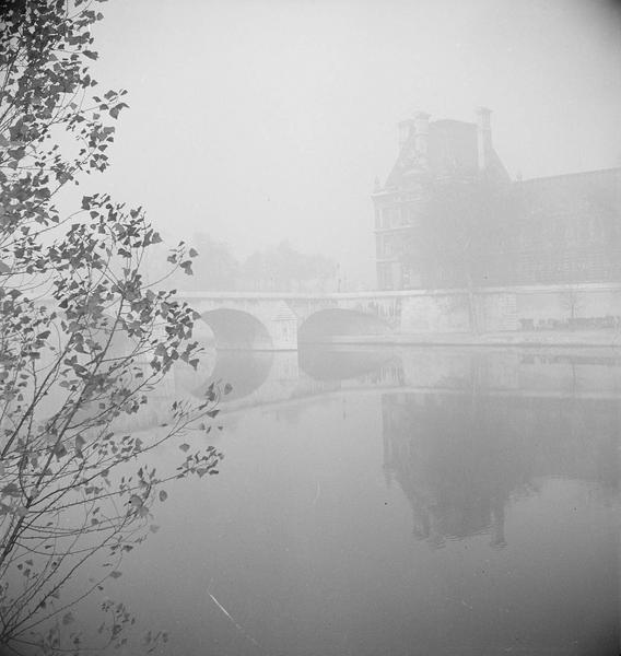
<path id="1" fill-rule="evenodd" d="M 399 330 L 401 319 L 400 297 L 382 292 L 188 292 L 178 294 L 178 298 L 187 301 L 200 313 L 213 332 L 215 345 L 221 349 L 295 350 L 302 341 L 326 341 L 348 335 L 387 335 Z"/>

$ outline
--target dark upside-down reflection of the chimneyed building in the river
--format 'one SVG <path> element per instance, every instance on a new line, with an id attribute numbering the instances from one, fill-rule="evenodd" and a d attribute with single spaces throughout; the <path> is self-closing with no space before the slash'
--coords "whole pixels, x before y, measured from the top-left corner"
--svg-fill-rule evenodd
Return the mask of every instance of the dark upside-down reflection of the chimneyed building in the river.
<path id="1" fill-rule="evenodd" d="M 436 547 L 481 532 L 504 546 L 507 502 L 540 477 L 619 487 L 616 400 L 399 393 L 382 412 L 388 480 Z"/>

